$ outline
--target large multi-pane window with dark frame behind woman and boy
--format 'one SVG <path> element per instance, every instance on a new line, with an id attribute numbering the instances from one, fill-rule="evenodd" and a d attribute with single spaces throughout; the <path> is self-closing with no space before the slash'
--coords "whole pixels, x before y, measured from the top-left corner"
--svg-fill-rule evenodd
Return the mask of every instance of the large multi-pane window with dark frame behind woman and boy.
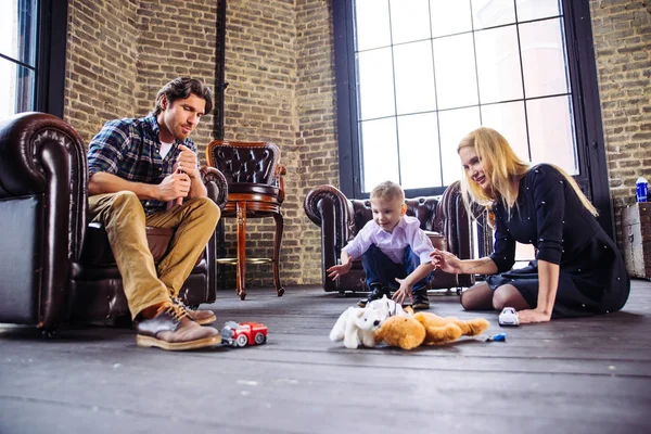
<path id="1" fill-rule="evenodd" d="M 333 11 L 345 194 L 385 179 L 438 194 L 461 176 L 460 139 L 484 125 L 597 191 L 610 215 L 588 0 L 340 0 Z"/>

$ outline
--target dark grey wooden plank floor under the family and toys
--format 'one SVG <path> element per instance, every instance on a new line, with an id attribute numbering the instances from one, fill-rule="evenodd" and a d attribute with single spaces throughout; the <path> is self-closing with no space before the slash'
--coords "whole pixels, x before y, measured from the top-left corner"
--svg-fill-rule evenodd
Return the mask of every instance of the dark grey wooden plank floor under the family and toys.
<path id="1" fill-rule="evenodd" d="M 442 347 L 349 350 L 328 340 L 357 301 L 317 286 L 220 292 L 226 320 L 266 345 L 166 353 L 131 330 L 69 328 L 44 340 L 0 326 L 0 433 L 647 433 L 651 283 L 623 311 L 500 329 L 455 295 L 431 311 L 490 330 Z M 484 342 L 507 332 L 507 342 Z"/>

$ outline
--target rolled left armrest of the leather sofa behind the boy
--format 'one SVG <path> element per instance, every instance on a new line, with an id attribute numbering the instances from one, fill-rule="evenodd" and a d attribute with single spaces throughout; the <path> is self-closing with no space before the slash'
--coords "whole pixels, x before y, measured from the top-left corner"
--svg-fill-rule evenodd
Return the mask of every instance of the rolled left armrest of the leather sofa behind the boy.
<path id="1" fill-rule="evenodd" d="M 326 270 L 336 265 L 342 248 L 356 232 L 353 205 L 337 188 L 318 186 L 305 196 L 307 217 L 321 228 L 321 273 L 323 288 L 336 290 L 336 282 Z"/>

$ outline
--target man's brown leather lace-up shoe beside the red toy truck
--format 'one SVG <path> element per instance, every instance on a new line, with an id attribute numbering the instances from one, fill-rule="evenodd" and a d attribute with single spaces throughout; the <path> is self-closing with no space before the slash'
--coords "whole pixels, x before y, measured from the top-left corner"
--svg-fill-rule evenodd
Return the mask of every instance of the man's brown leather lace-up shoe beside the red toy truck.
<path id="1" fill-rule="evenodd" d="M 177 305 L 167 305 L 154 318 L 138 322 L 136 344 L 168 350 L 196 349 L 219 345 L 221 336 L 216 329 L 203 327 L 188 318 Z"/>

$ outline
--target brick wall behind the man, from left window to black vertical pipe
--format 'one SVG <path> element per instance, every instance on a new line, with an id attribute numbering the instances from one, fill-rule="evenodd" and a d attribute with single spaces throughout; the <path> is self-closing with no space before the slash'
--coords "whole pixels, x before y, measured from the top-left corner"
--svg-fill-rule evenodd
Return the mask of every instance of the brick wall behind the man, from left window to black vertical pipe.
<path id="1" fill-rule="evenodd" d="M 106 120 L 146 115 L 173 78 L 214 87 L 216 14 L 212 0 L 68 0 L 65 119 L 88 143 Z M 206 116 L 192 138 L 212 137 Z"/>

